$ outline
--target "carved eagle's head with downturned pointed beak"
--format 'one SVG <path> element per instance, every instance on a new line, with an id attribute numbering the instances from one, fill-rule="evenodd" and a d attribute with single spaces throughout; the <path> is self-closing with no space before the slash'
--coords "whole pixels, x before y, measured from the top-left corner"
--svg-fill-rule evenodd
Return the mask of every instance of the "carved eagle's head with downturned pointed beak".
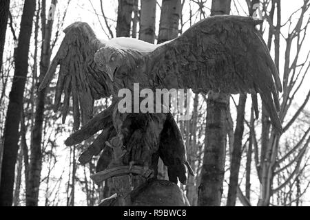
<path id="1" fill-rule="evenodd" d="M 99 49 L 94 55 L 94 61 L 99 69 L 109 76 L 114 82 L 117 69 L 123 64 L 124 54 L 121 50 L 112 46 L 105 46 Z"/>

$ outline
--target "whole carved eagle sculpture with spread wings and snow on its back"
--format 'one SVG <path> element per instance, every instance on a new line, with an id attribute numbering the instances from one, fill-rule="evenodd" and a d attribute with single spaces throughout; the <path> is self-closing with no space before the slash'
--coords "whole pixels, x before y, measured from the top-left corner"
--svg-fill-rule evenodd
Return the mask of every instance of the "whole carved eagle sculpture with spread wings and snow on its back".
<path id="1" fill-rule="evenodd" d="M 269 112 L 274 129 L 282 132 L 278 92 L 282 85 L 276 65 L 251 17 L 221 15 L 204 19 L 173 41 L 162 45 L 101 41 L 87 23 L 73 23 L 56 53 L 40 89 L 49 85 L 60 65 L 54 111 L 63 100 L 63 122 L 73 100 L 74 130 L 67 145 L 78 144 L 102 130 L 80 157 L 89 162 L 101 154 L 97 171 L 114 166 L 143 166 L 154 170 L 158 157 L 168 168 L 169 180 L 186 183 L 183 137 L 171 113 L 119 113 L 118 91 L 141 89 L 192 89 L 227 94 L 251 94 L 256 117 L 258 99 Z M 134 40 L 128 42 L 134 42 Z M 138 41 L 138 40 L 136 40 Z M 113 97 L 112 105 L 92 118 L 94 100 Z M 81 118 L 81 119 L 80 119 Z M 107 147 L 110 146 L 110 147 Z M 111 165 L 112 164 L 112 165 Z M 114 164 L 114 166 L 113 166 Z"/>

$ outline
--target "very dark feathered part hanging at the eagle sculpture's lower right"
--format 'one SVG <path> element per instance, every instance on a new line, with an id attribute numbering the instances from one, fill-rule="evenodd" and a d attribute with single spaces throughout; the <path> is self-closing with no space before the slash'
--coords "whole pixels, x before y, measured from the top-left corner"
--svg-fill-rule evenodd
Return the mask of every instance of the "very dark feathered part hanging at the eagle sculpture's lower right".
<path id="1" fill-rule="evenodd" d="M 186 160 L 186 148 L 182 134 L 171 113 L 167 114 L 163 131 L 161 131 L 159 156 L 167 166 L 169 181 L 178 184 L 179 179 L 182 184 L 186 184 L 185 166 L 189 174 L 194 175 L 194 171 Z"/>

